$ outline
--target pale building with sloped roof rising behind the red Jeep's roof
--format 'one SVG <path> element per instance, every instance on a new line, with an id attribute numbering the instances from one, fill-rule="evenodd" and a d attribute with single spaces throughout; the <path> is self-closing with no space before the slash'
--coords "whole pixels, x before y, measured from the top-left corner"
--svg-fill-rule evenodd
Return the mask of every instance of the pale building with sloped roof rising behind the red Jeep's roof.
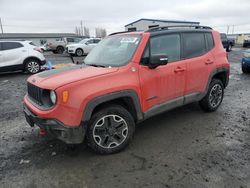
<path id="1" fill-rule="evenodd" d="M 200 22 L 178 21 L 178 20 L 157 20 L 142 18 L 125 25 L 125 31 L 145 31 L 153 27 L 162 27 L 170 25 L 199 25 Z"/>

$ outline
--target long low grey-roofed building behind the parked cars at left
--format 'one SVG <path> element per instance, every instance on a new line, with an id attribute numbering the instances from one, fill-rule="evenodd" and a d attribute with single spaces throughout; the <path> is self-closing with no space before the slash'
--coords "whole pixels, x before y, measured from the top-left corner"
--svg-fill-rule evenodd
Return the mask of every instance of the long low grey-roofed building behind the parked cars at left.
<path id="1" fill-rule="evenodd" d="M 49 40 L 73 40 L 74 38 L 86 38 L 74 33 L 4 33 L 0 34 L 0 40 L 29 40 L 35 45 L 41 46 Z M 70 41 L 68 41 L 70 42 Z"/>

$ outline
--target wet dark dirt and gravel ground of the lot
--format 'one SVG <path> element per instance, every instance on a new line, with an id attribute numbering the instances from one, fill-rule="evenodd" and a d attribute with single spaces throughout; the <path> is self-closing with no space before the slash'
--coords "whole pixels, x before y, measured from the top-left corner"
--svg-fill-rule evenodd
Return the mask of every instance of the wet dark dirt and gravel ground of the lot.
<path id="1" fill-rule="evenodd" d="M 241 54 L 230 52 L 218 111 L 191 104 L 149 119 L 126 150 L 108 156 L 38 137 L 22 113 L 28 75 L 0 75 L 0 187 L 250 188 L 250 75 L 241 73 Z"/>

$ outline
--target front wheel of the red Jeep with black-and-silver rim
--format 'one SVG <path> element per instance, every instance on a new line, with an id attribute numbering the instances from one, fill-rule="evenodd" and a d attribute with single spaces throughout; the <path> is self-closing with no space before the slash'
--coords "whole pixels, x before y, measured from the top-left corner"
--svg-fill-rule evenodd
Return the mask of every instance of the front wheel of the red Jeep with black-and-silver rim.
<path id="1" fill-rule="evenodd" d="M 111 105 L 96 112 L 90 119 L 87 141 L 99 154 L 111 154 L 123 150 L 132 139 L 135 122 L 122 106 Z"/>

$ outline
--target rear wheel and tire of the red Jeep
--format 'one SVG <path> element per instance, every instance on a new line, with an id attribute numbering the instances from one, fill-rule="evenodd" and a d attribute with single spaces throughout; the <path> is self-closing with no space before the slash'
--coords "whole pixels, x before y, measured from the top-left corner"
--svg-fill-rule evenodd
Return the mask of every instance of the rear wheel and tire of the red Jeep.
<path id="1" fill-rule="evenodd" d="M 213 79 L 209 84 L 206 96 L 199 102 L 205 112 L 216 111 L 223 101 L 224 85 L 221 80 Z"/>

